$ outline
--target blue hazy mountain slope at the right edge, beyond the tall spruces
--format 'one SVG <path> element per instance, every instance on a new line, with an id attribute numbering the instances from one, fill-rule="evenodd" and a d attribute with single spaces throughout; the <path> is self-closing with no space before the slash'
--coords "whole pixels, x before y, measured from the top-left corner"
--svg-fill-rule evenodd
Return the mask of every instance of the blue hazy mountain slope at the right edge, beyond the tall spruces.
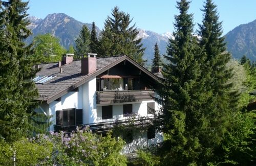
<path id="1" fill-rule="evenodd" d="M 240 59 L 246 55 L 250 60 L 256 61 L 256 19 L 234 28 L 225 36 L 227 50 L 234 58 Z"/>

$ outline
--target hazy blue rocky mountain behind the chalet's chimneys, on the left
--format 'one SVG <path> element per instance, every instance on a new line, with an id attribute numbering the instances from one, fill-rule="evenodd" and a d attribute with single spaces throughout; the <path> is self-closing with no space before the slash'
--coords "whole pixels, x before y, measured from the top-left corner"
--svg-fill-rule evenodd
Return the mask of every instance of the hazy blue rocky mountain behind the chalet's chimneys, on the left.
<path id="1" fill-rule="evenodd" d="M 53 13 L 46 16 L 45 19 L 29 17 L 31 24 L 28 26 L 33 32 L 26 42 L 31 43 L 34 36 L 38 34 L 51 33 L 60 39 L 60 44 L 66 49 L 74 45 L 75 38 L 78 37 L 84 23 L 64 14 Z M 92 30 L 92 23 L 86 23 L 87 27 Z M 99 28 L 96 27 L 96 32 Z"/>

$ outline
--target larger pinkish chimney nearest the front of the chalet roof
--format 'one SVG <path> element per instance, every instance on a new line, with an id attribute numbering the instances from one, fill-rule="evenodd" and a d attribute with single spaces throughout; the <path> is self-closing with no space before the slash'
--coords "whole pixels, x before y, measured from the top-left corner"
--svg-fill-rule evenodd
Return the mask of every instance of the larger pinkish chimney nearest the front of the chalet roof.
<path id="1" fill-rule="evenodd" d="M 97 54 L 88 54 L 88 57 L 82 57 L 81 59 L 81 73 L 90 74 L 96 71 L 96 55 Z"/>

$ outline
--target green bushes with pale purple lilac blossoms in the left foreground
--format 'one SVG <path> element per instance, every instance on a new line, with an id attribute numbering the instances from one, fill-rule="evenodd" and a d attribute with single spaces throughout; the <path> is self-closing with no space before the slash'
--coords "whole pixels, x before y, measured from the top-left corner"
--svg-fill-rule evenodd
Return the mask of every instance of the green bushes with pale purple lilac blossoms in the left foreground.
<path id="1" fill-rule="evenodd" d="M 0 163 L 9 165 L 12 157 L 17 165 L 126 165 L 120 152 L 124 142 L 93 134 L 88 129 L 67 135 L 63 132 L 40 134 L 32 139 L 21 138 L 13 145 L 0 141 Z"/>

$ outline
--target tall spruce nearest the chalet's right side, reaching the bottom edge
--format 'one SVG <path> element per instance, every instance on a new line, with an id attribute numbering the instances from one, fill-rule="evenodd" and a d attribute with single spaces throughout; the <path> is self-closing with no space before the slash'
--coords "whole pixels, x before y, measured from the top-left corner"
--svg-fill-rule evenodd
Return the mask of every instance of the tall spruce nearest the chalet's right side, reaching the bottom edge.
<path id="1" fill-rule="evenodd" d="M 163 106 L 163 131 L 167 139 L 160 149 L 163 164 L 196 164 L 203 150 L 200 131 L 203 115 L 200 110 L 202 84 L 199 81 L 199 46 L 193 36 L 193 15 L 188 14 L 189 3 L 177 2 L 179 15 L 175 16 L 174 39 L 169 39 L 163 64 L 164 81 L 157 92 Z"/>

